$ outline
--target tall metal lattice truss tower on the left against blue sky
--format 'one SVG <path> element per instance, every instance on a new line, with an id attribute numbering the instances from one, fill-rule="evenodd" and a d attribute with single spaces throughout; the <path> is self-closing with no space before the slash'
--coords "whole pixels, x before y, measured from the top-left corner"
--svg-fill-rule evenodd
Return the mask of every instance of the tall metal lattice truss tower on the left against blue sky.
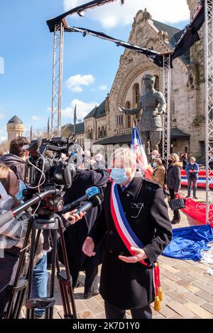
<path id="1" fill-rule="evenodd" d="M 63 44 L 64 24 L 61 22 L 54 31 L 51 137 L 61 134 Z"/>

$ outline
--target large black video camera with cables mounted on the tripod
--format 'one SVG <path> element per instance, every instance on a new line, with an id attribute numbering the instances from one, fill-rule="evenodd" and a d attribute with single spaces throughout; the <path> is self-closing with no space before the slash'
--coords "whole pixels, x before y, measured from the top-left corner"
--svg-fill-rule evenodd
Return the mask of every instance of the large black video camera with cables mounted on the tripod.
<path id="1" fill-rule="evenodd" d="M 29 152 L 25 174 L 27 187 L 36 191 L 47 186 L 70 188 L 76 174 L 75 164 L 72 159 L 63 161 L 61 157 L 71 152 L 74 145 L 70 138 L 53 137 L 49 141 L 39 138 L 24 146 L 23 149 Z M 46 156 L 47 151 L 53 152 L 53 158 Z"/>

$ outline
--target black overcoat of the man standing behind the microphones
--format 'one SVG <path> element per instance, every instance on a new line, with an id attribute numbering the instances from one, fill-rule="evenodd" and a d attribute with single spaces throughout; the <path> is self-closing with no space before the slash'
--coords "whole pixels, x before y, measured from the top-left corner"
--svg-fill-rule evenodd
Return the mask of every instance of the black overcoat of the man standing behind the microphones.
<path id="1" fill-rule="evenodd" d="M 84 196 L 87 188 L 92 186 L 97 186 L 104 190 L 107 181 L 109 180 L 109 172 L 107 169 L 98 170 L 82 170 L 77 169 L 77 174 L 75 180 L 73 181 L 72 187 L 68 189 L 65 193 L 64 203 L 72 203 L 77 198 Z M 67 249 L 67 258 L 70 266 L 70 272 L 75 273 L 75 271 L 84 271 L 88 267 L 98 266 L 102 264 L 102 254 L 104 247 L 103 242 L 100 242 L 97 246 L 97 257 L 89 258 L 85 256 L 82 252 L 82 245 L 86 239 L 88 232 L 91 230 L 97 215 L 102 210 L 101 206 L 91 208 L 87 211 L 87 215 L 75 225 L 70 225 L 64 232 L 65 244 Z M 59 244 L 58 249 L 59 259 L 62 262 L 61 247 Z M 63 262 L 62 262 L 63 264 Z"/>

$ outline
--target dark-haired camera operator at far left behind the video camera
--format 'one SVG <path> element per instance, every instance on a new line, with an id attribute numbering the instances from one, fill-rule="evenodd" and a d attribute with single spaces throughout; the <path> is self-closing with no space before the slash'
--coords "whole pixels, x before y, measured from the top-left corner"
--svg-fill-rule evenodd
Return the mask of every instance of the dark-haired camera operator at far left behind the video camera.
<path id="1" fill-rule="evenodd" d="M 23 149 L 23 146 L 28 145 L 28 143 L 26 137 L 16 137 L 16 139 L 11 140 L 9 154 L 0 157 L 0 164 L 9 166 L 21 181 L 24 181 L 25 162 L 28 157 L 28 152 Z"/>

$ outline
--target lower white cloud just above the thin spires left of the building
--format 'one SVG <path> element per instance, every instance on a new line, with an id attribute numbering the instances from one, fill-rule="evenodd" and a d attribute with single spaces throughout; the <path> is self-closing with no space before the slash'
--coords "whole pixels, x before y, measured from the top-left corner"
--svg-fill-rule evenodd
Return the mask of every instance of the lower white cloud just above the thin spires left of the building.
<path id="1" fill-rule="evenodd" d="M 99 103 L 85 103 L 77 98 L 73 99 L 70 106 L 67 106 L 67 108 L 62 110 L 62 117 L 71 118 L 73 121 L 75 105 L 77 106 L 77 119 L 83 119 L 90 111 L 92 111 L 94 106 L 99 106 Z"/>

